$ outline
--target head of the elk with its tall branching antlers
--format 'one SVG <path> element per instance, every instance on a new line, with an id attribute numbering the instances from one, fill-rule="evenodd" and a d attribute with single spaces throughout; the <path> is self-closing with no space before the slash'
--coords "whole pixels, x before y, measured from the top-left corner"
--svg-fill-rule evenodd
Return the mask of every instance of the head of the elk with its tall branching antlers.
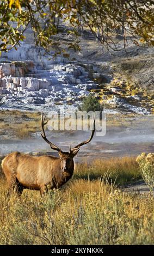
<path id="1" fill-rule="evenodd" d="M 94 133 L 95 133 L 95 117 L 94 117 L 94 124 L 93 124 L 93 130 L 91 131 L 91 136 L 87 141 L 83 141 L 76 145 L 74 148 L 71 149 L 69 152 L 64 152 L 60 148 L 57 147 L 57 145 L 53 144 L 52 142 L 48 141 L 46 135 L 45 135 L 45 130 L 44 126 L 47 124 L 47 121 L 45 121 L 46 115 L 43 116 L 43 113 L 41 115 L 41 127 L 42 127 L 42 132 L 41 136 L 42 138 L 50 145 L 51 149 L 58 151 L 59 157 L 60 157 L 60 167 L 62 173 L 69 173 L 70 169 L 73 168 L 73 157 L 75 157 L 80 149 L 81 146 L 89 143 L 91 139 L 93 139 Z"/>

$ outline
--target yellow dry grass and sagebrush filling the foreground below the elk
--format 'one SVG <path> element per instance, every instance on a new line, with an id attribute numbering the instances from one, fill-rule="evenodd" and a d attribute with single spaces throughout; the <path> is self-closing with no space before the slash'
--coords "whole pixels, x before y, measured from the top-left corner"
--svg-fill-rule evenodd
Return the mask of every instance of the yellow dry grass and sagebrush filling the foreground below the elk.
<path id="1" fill-rule="evenodd" d="M 153 197 L 116 187 L 124 177 L 129 180 L 129 171 L 130 180 L 140 177 L 138 165 L 128 157 L 107 160 L 104 166 L 100 160 L 78 164 L 73 179 L 43 199 L 28 190 L 21 198 L 9 198 L 2 176 L 1 245 L 153 244 Z M 107 182 L 109 177 L 117 177 L 115 185 Z"/>

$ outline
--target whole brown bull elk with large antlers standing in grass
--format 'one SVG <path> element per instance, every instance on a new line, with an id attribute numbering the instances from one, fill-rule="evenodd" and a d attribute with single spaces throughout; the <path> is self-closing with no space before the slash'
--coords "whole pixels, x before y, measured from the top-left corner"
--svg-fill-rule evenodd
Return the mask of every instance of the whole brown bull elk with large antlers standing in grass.
<path id="1" fill-rule="evenodd" d="M 69 152 L 64 152 L 52 142 L 48 141 L 44 126 L 46 115 L 41 115 L 41 136 L 51 149 L 58 151 L 59 157 L 54 156 L 30 156 L 20 152 L 10 153 L 2 161 L 2 170 L 7 178 L 9 191 L 14 189 L 19 195 L 24 188 L 40 190 L 41 196 L 49 189 L 59 188 L 73 175 L 75 157 L 82 145 L 91 141 L 95 132 L 95 118 L 91 136 L 87 141 L 79 143 Z"/>

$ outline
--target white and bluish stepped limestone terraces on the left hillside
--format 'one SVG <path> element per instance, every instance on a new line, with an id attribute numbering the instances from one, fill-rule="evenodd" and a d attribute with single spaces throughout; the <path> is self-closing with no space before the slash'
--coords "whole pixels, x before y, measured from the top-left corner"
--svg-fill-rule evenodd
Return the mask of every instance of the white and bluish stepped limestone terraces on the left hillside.
<path id="1" fill-rule="evenodd" d="M 2 60 L 1 60 L 2 59 Z M 33 45 L 22 45 L 0 59 L 0 95 L 4 105 L 34 108 L 36 105 L 76 105 L 98 84 L 78 62 L 68 62 L 53 52 L 45 52 Z M 94 73 L 95 76 L 95 73 Z"/>

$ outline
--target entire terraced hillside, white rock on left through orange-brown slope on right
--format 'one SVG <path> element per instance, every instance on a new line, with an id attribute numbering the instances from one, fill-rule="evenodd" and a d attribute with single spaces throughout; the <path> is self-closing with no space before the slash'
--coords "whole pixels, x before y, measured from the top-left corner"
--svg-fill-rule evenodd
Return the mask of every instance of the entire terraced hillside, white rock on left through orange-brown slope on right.
<path id="1" fill-rule="evenodd" d="M 0 108 L 76 108 L 91 93 L 106 109 L 153 113 L 151 47 L 139 48 L 130 42 L 128 59 L 123 51 L 110 55 L 94 38 L 83 36 L 81 47 L 81 53 L 70 52 L 71 60 L 54 58 L 52 51 L 47 55 L 33 41 L 22 44 L 17 51 L 3 53 Z"/>

